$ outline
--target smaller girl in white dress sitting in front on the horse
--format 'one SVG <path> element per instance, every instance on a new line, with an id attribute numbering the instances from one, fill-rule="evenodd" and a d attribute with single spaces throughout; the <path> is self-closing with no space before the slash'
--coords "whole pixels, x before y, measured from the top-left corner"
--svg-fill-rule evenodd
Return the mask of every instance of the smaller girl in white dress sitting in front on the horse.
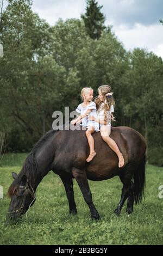
<path id="1" fill-rule="evenodd" d="M 96 155 L 94 147 L 94 139 L 92 133 L 99 131 L 99 124 L 95 120 L 89 120 L 86 118 L 87 114 L 90 114 L 90 117 L 97 118 L 96 113 L 96 103 L 92 101 L 93 99 L 93 89 L 91 87 L 85 87 L 81 91 L 81 96 L 83 103 L 80 103 L 76 111 L 80 114 L 77 119 L 71 121 L 71 124 L 80 124 L 86 127 L 86 137 L 90 146 L 90 155 L 87 157 L 86 161 L 90 162 L 93 157 Z"/>

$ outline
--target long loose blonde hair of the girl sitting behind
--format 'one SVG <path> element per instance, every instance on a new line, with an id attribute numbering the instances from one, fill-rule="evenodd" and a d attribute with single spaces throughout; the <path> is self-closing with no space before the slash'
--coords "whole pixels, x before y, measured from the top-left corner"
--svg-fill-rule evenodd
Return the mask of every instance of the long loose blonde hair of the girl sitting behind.
<path id="1" fill-rule="evenodd" d="M 97 97 L 96 100 L 95 100 L 96 107 L 97 107 L 97 110 L 99 108 L 104 109 L 104 113 L 105 113 L 104 120 L 106 121 L 108 119 L 108 111 L 110 111 L 111 105 L 115 105 L 115 100 L 114 100 L 114 97 L 112 95 L 109 95 L 109 96 L 106 95 L 106 94 L 112 94 L 112 89 L 111 89 L 110 86 L 108 86 L 108 85 L 99 86 L 98 91 L 99 91 L 99 93 L 101 93 L 103 95 L 104 106 L 101 106 L 102 102 L 99 99 L 99 97 Z M 111 119 L 115 121 L 113 115 L 112 115 Z"/>

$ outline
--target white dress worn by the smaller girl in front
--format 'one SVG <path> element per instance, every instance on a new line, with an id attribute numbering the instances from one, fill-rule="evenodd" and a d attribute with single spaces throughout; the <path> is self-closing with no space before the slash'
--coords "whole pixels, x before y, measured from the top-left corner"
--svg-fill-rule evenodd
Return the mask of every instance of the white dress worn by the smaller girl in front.
<path id="1" fill-rule="evenodd" d="M 82 114 L 86 113 L 86 111 L 88 109 L 92 109 L 92 111 L 90 112 L 89 115 L 92 115 L 92 117 L 97 118 L 96 103 L 93 101 L 91 101 L 89 103 L 89 105 L 87 105 L 86 107 L 83 107 L 83 103 L 80 103 L 79 106 L 77 107 L 76 111 L 82 115 Z M 84 117 L 82 119 L 82 124 L 80 124 L 80 125 L 87 127 L 87 128 L 90 126 L 93 126 L 95 128 L 96 132 L 99 131 L 99 124 L 96 121 L 87 120 L 86 117 Z"/>

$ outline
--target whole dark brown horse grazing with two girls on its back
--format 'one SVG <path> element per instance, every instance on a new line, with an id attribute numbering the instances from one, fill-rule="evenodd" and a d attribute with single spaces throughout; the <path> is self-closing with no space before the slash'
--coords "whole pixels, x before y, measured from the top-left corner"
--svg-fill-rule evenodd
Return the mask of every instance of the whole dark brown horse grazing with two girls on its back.
<path id="1" fill-rule="evenodd" d="M 89 146 L 85 131 L 49 131 L 36 143 L 24 161 L 21 172 L 12 173 L 14 181 L 8 194 L 11 202 L 8 217 L 16 222 L 35 202 L 35 191 L 43 177 L 53 170 L 65 186 L 70 214 L 77 214 L 74 201 L 73 178 L 76 179 L 90 208 L 92 219 L 99 214 L 92 201 L 89 180 L 106 180 L 118 175 L 123 184 L 120 203 L 115 210 L 120 215 L 126 199 L 127 213 L 133 212 L 133 205 L 141 203 L 145 187 L 146 142 L 142 135 L 130 127 L 114 127 L 110 137 L 114 139 L 124 156 L 125 164 L 118 168 L 118 157 L 101 138 L 100 132 L 93 133 L 96 156 L 86 162 Z"/>

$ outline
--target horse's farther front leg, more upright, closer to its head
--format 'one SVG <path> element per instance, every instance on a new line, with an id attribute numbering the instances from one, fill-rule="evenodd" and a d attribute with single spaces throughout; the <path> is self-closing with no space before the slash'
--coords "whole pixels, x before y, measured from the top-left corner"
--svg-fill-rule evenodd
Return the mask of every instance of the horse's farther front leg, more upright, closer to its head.
<path id="1" fill-rule="evenodd" d="M 68 199 L 68 204 L 70 208 L 70 214 L 77 214 L 77 206 L 74 202 L 74 192 L 73 192 L 73 181 L 72 178 L 60 175 L 60 178 L 65 186 L 65 191 Z"/>

